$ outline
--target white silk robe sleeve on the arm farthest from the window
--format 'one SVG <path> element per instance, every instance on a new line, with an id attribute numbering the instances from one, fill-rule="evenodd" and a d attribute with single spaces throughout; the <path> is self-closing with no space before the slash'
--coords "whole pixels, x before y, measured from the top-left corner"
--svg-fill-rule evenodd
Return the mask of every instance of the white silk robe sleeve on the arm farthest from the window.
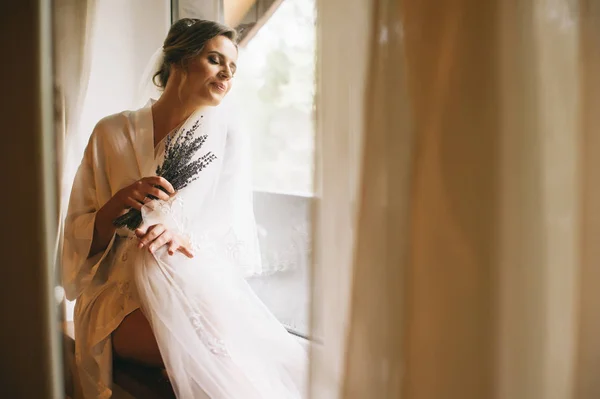
<path id="1" fill-rule="evenodd" d="M 107 184 L 103 167 L 104 156 L 98 143 L 102 130 L 105 130 L 105 127 L 101 121 L 94 128 L 75 175 L 65 218 L 62 279 L 69 300 L 76 299 L 89 286 L 115 241 L 113 235 L 104 251 L 88 257 L 94 236 L 96 214 L 101 207 L 97 187 L 99 184 Z"/>

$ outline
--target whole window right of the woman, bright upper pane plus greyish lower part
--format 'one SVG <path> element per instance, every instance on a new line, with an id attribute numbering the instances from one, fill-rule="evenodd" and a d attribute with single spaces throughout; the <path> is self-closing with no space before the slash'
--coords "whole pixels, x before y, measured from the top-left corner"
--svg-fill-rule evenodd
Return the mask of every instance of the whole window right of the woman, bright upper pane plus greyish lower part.
<path id="1" fill-rule="evenodd" d="M 314 0 L 283 0 L 240 48 L 232 95 L 252 135 L 254 208 L 265 275 L 249 280 L 290 331 L 307 336 L 313 193 Z"/>

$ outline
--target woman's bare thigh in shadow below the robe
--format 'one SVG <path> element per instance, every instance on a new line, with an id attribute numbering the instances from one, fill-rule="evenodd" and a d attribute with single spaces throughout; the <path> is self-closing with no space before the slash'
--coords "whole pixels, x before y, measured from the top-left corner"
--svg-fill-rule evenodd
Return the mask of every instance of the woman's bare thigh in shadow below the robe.
<path id="1" fill-rule="evenodd" d="M 164 367 L 150 323 L 140 309 L 127 315 L 112 333 L 112 346 L 120 358 Z"/>

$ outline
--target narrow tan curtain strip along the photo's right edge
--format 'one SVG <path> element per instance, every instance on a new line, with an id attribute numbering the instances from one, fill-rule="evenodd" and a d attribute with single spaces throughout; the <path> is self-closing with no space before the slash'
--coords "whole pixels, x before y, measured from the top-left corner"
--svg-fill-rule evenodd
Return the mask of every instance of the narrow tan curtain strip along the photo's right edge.
<path id="1" fill-rule="evenodd" d="M 579 274 L 579 308 L 577 325 L 577 356 L 575 360 L 576 399 L 600 397 L 600 3 L 579 2 L 580 43 L 578 62 L 582 77 L 582 134 L 577 151 L 582 160 L 579 212 L 579 243 L 581 269 Z"/>

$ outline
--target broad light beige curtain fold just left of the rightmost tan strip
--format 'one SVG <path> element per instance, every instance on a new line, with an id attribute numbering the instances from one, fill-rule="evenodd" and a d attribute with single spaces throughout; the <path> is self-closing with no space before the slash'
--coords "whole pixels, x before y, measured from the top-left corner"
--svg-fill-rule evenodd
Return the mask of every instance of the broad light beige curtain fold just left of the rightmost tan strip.
<path id="1" fill-rule="evenodd" d="M 585 59 L 578 7 L 503 2 L 500 18 L 497 397 L 571 398 Z"/>

